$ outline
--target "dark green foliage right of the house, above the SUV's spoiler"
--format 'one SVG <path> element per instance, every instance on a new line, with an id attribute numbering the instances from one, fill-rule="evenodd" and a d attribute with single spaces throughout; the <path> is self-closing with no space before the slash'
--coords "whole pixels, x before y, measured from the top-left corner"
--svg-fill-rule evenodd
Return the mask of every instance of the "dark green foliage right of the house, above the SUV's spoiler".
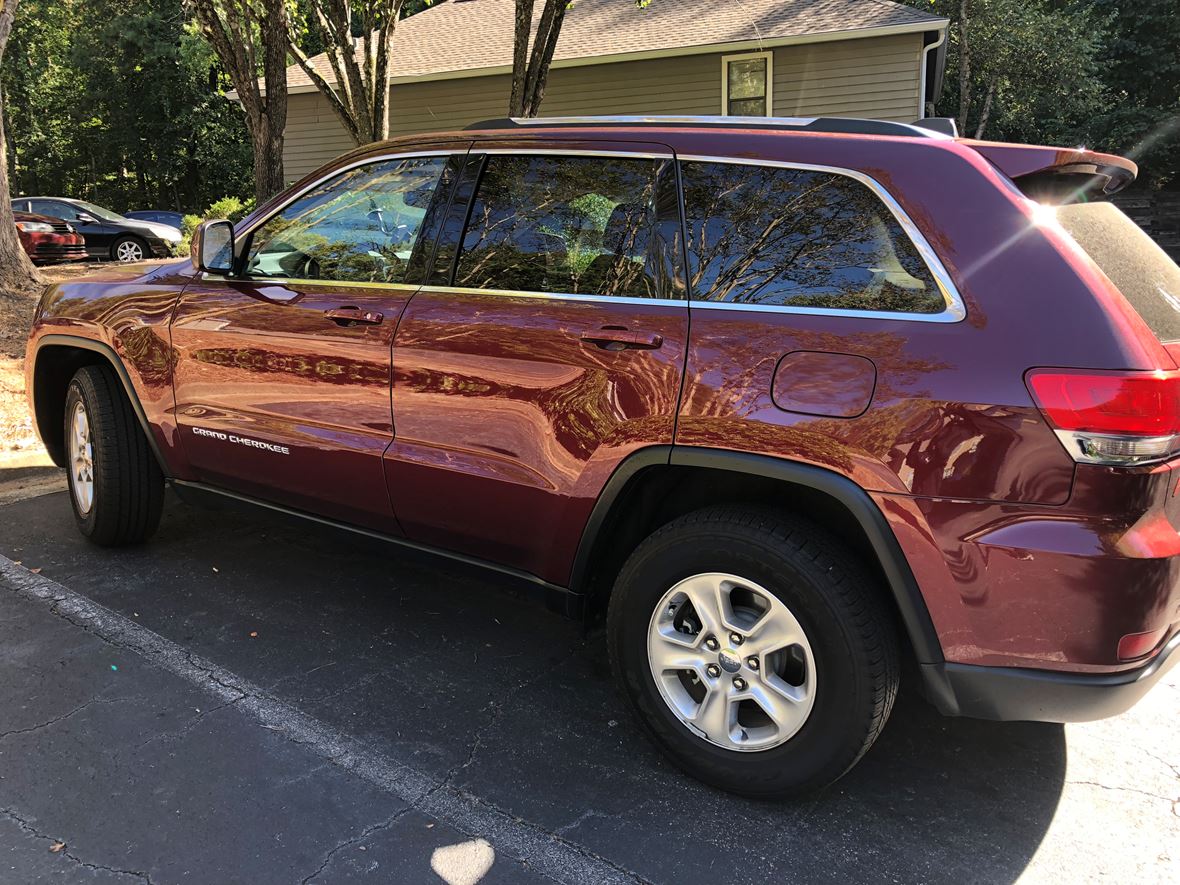
<path id="1" fill-rule="evenodd" d="M 995 140 L 1084 144 L 1135 159 L 1146 186 L 1180 185 L 1175 0 L 902 2 L 951 20 L 936 112 L 961 118 L 964 135 L 977 135 L 983 122 L 982 136 Z M 959 88 L 964 6 L 965 101 Z"/>

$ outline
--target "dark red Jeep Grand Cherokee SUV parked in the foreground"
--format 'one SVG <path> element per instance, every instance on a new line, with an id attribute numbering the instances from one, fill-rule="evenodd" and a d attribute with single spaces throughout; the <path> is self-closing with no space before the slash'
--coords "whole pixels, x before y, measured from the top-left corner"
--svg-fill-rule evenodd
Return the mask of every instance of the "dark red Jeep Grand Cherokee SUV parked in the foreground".
<path id="1" fill-rule="evenodd" d="M 678 765 L 782 795 L 906 660 L 944 713 L 1071 721 L 1180 657 L 1180 269 L 1101 201 L 1134 175 L 873 120 L 414 136 L 51 288 L 28 389 L 92 540 L 168 480 L 484 565 L 605 614 Z"/>

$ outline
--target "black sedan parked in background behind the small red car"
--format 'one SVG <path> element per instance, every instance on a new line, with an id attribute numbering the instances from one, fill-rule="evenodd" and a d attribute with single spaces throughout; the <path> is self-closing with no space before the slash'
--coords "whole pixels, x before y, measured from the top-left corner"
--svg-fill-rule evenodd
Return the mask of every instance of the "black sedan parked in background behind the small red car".
<path id="1" fill-rule="evenodd" d="M 12 201 L 19 212 L 47 215 L 67 221 L 86 237 L 92 258 L 140 261 L 165 257 L 181 242 L 181 231 L 168 224 L 125 218 L 110 209 L 67 197 L 19 197 Z"/>

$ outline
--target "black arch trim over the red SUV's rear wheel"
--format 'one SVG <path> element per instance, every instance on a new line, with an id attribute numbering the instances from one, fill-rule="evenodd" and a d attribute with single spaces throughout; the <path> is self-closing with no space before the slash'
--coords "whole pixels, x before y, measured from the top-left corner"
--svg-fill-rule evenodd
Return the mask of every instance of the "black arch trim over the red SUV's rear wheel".
<path id="1" fill-rule="evenodd" d="M 615 468 L 586 522 L 570 575 L 572 590 L 584 592 L 586 589 L 595 542 L 620 494 L 641 470 L 660 465 L 706 467 L 766 477 L 814 489 L 837 500 L 857 520 L 865 537 L 868 538 L 918 663 L 943 663 L 942 643 L 939 643 L 938 634 L 935 631 L 925 598 L 880 507 L 873 503 L 864 489 L 847 477 L 824 467 L 772 455 L 694 446 L 651 446 L 628 457 Z M 925 673 L 924 669 L 924 675 Z"/>

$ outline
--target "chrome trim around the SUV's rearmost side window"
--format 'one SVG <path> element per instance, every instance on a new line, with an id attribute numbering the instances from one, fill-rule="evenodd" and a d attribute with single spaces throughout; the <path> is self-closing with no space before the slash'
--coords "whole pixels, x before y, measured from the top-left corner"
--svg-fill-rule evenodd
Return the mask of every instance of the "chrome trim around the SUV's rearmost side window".
<path id="1" fill-rule="evenodd" d="M 943 267 L 942 260 L 938 254 L 930 245 L 930 242 L 923 235 L 911 219 L 906 215 L 902 205 L 893 198 L 893 196 L 881 186 L 880 182 L 870 175 L 857 171 L 854 169 L 844 169 L 841 166 L 822 166 L 812 163 L 791 163 L 787 160 L 775 160 L 775 159 L 748 159 L 745 157 L 714 157 L 700 153 L 686 153 L 677 158 L 681 163 L 726 163 L 732 165 L 742 166 L 763 166 L 774 169 L 799 169 L 806 172 L 826 172 L 830 175 L 840 175 L 853 181 L 860 182 L 866 188 L 868 188 L 873 194 L 877 195 L 886 208 L 892 212 L 897 223 L 902 225 L 902 230 L 910 238 L 910 242 L 918 250 L 919 257 L 922 257 L 923 263 L 926 266 L 926 270 L 935 280 L 935 284 L 943 295 L 943 301 L 945 302 L 945 309 L 938 314 L 916 314 L 916 313 L 903 313 L 899 310 L 857 310 L 853 308 L 838 308 L 838 307 L 794 307 L 791 304 L 742 304 L 732 301 L 704 301 L 700 299 L 691 299 L 691 306 L 694 309 L 703 308 L 707 310 L 755 310 L 755 312 L 776 312 L 784 314 L 806 314 L 814 316 L 854 316 L 866 320 L 905 320 L 909 322 L 962 322 L 966 319 L 966 306 L 963 302 L 963 296 L 959 295 L 955 282 L 951 280 L 950 274 L 946 273 L 946 268 Z M 686 217 L 686 223 L 688 218 Z"/>

